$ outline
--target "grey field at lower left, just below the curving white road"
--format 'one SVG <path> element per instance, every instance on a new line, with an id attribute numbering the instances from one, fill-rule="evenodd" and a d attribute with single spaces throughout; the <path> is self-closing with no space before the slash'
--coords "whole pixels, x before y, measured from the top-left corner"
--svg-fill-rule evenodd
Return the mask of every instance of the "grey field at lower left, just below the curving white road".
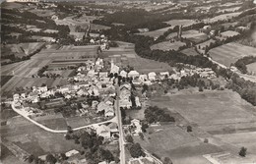
<path id="1" fill-rule="evenodd" d="M 67 152 L 71 149 L 80 149 L 74 141 L 66 140 L 63 134 L 48 133 L 32 125 L 23 117 L 8 120 L 7 126 L 1 127 L 1 136 L 14 141 L 18 146 L 33 155 L 45 155 L 48 152 Z"/>

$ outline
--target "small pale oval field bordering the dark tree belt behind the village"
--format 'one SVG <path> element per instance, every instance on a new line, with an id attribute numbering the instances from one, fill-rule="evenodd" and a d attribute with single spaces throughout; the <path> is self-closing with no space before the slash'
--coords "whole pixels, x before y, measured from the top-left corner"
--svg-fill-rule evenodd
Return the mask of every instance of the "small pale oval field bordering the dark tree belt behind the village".
<path id="1" fill-rule="evenodd" d="M 178 50 L 179 47 L 186 45 L 184 42 L 181 41 L 175 41 L 175 42 L 170 42 L 170 41 L 164 41 L 160 42 L 158 44 L 154 44 L 151 46 L 151 49 L 160 49 L 163 51 L 169 51 L 169 50 Z"/>

